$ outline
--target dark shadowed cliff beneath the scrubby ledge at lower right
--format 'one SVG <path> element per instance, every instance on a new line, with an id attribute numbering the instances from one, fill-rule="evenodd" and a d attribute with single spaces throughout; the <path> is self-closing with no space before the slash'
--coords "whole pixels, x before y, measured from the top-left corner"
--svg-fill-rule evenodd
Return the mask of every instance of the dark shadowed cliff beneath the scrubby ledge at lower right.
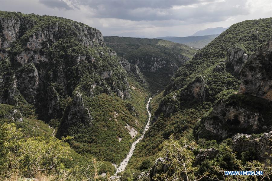
<path id="1" fill-rule="evenodd" d="M 245 100 L 238 101 L 238 97 L 243 95 L 233 95 L 227 101 L 216 104 L 208 117 L 203 118 L 205 129 L 218 135 L 218 138 L 227 138 L 239 133 L 260 133 L 272 129 L 269 115 L 270 107 L 252 109 L 248 107 Z M 249 98 L 250 99 L 250 98 Z M 254 97 L 252 97 L 254 99 Z M 256 100 L 261 102 L 264 100 Z M 244 102 L 244 104 L 243 104 Z M 269 105 L 270 103 L 267 102 Z"/>

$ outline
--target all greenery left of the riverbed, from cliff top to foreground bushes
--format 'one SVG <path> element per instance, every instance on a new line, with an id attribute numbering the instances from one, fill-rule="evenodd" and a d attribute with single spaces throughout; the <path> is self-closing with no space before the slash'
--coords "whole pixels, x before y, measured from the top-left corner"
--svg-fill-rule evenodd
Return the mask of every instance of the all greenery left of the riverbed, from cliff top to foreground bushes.
<path id="1" fill-rule="evenodd" d="M 0 101 L 5 103 L 0 104 L 0 125 L 14 123 L 21 134 L 20 148 L 5 152 L 31 148 L 19 156 L 22 165 L 3 167 L 1 179 L 12 180 L 15 172 L 18 177 L 44 174 L 55 180 L 92 180 L 94 174 L 115 173 L 111 163 L 121 162 L 147 122 L 149 92 L 124 70 L 95 28 L 46 15 L 0 11 L 0 17 L 13 17 L 19 29 L 16 40 L 0 48 Z M 42 36 L 44 32 L 50 35 Z M 135 129 L 134 138 L 127 124 Z M 60 154 L 56 162 L 45 151 L 50 146 L 56 148 L 50 152 L 53 159 Z M 28 160 L 30 151 L 40 157 Z M 44 167 L 34 168 L 40 164 Z M 32 165 L 33 173 L 25 172 Z"/>

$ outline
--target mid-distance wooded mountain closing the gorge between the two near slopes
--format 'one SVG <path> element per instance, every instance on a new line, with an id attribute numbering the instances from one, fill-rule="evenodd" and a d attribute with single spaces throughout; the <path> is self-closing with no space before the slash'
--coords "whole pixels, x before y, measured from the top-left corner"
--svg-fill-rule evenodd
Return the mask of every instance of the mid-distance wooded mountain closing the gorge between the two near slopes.
<path id="1" fill-rule="evenodd" d="M 196 49 L 184 44 L 161 39 L 104 38 L 107 46 L 114 49 L 118 56 L 140 68 L 152 93 L 164 89 L 175 71 L 196 52 Z"/>

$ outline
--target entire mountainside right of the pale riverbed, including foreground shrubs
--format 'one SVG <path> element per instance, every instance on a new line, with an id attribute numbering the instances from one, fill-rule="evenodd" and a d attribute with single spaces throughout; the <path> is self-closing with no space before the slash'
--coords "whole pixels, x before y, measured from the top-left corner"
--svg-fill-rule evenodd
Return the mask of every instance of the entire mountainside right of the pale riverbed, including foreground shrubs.
<path id="1" fill-rule="evenodd" d="M 152 125 L 128 168 L 151 160 L 149 177 L 172 180 L 188 169 L 191 179 L 224 179 L 220 170 L 241 170 L 252 160 L 266 167 L 272 153 L 271 42 L 272 18 L 265 18 L 233 24 L 198 50 L 151 100 Z"/>

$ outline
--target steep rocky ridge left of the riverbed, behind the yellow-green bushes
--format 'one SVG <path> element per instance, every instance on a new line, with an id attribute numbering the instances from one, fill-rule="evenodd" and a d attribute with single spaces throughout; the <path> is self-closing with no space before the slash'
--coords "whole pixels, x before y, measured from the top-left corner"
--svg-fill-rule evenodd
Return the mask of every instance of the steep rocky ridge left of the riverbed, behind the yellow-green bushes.
<path id="1" fill-rule="evenodd" d="M 73 136 L 76 152 L 120 163 L 147 121 L 138 67 L 64 18 L 1 11 L 0 35 L 0 103 Z"/>

